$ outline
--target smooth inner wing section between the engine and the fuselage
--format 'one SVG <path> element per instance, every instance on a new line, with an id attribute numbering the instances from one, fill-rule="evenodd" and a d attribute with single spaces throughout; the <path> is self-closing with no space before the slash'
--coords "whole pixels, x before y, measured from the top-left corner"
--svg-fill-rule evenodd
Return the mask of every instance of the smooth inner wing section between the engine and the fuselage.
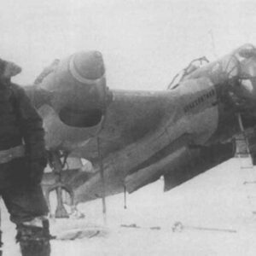
<path id="1" fill-rule="evenodd" d="M 154 136 L 154 131 L 167 118 L 169 109 L 175 112 L 170 96 L 165 93 L 131 90 L 113 90 L 112 93 L 114 100 L 108 106 L 102 120 L 102 131 L 98 134 L 102 158 L 145 137 Z M 91 137 L 89 143 L 83 148 L 74 149 L 72 154 L 96 162 L 96 138 Z"/>

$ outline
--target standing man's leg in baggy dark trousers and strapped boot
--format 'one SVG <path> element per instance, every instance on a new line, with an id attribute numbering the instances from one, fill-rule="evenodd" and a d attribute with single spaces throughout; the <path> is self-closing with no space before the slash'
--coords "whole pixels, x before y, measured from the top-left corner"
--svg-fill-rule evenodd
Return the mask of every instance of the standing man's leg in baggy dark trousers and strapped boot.
<path id="1" fill-rule="evenodd" d="M 41 186 L 3 189 L 3 201 L 17 226 L 16 241 L 22 256 L 49 256 L 48 207 Z"/>

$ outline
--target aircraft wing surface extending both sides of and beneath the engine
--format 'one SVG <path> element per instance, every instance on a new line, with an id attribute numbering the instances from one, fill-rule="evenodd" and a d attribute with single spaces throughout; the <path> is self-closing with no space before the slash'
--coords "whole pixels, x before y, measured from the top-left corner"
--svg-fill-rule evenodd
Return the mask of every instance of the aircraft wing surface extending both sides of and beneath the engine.
<path id="1" fill-rule="evenodd" d="M 29 92 L 31 88 L 26 90 L 28 95 L 31 95 Z M 83 127 L 67 125 L 60 117 L 60 112 L 65 110 L 55 109 L 55 99 L 51 100 L 52 102 L 40 103 L 38 112 L 44 119 L 45 140 L 49 150 L 66 150 L 72 156 L 95 163 L 98 159 L 97 138 L 101 140 L 102 158 L 106 158 L 109 154 L 119 152 L 122 148 L 137 143 L 145 137 L 153 138 L 154 131 L 161 132 L 162 125 L 170 119 L 175 119 L 180 111 L 173 102 L 175 96 L 169 91 L 112 90 L 111 93 L 113 101 L 108 103 L 108 108 L 101 113 L 96 125 Z M 45 98 L 49 99 L 55 93 L 37 90 L 36 94 L 31 96 L 34 102 L 35 98 L 39 102 L 45 94 L 48 94 Z M 87 97 L 81 96 L 75 100 L 76 104 L 81 102 L 82 105 Z M 74 122 L 78 120 L 75 116 L 76 110 L 75 108 Z M 79 106 L 78 112 L 84 122 L 90 122 L 90 110 L 87 111 L 86 107 Z M 72 118 L 69 121 L 72 121 Z"/>

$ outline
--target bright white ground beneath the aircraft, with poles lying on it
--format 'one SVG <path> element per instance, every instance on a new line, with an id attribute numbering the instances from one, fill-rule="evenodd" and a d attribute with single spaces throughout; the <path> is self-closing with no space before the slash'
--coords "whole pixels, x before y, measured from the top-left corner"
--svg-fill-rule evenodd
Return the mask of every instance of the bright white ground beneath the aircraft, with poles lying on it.
<path id="1" fill-rule="evenodd" d="M 79 210 L 86 218 L 52 220 L 51 229 L 59 237 L 74 229 L 85 230 L 78 234 L 86 236 L 52 241 L 51 255 L 255 255 L 256 222 L 253 201 L 247 198 L 253 194 L 248 194 L 243 185 L 244 181 L 253 181 L 249 177 L 253 172 L 256 180 L 256 169 L 241 169 L 239 160 L 232 159 L 165 194 L 162 180 L 148 185 L 128 195 L 126 210 L 124 195 L 109 197 L 106 224 L 101 201 L 82 204 Z M 256 195 L 256 184 L 253 190 Z M 15 226 L 10 224 L 5 209 L 2 212 L 3 255 L 18 256 Z M 220 230 L 184 228 L 172 232 L 177 221 L 184 226 Z M 121 226 L 131 224 L 140 228 Z"/>

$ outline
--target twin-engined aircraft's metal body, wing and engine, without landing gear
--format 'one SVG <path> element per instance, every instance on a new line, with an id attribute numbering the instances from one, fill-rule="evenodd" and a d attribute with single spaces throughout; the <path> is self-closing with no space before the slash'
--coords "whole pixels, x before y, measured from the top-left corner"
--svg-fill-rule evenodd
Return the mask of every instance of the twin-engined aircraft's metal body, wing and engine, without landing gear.
<path id="1" fill-rule="evenodd" d="M 169 190 L 234 156 L 239 115 L 245 131 L 256 125 L 256 49 L 245 44 L 160 91 L 110 90 L 101 53 L 79 52 L 26 92 L 49 151 L 92 163 L 90 173 L 63 172 L 74 204 L 161 176 Z"/>

